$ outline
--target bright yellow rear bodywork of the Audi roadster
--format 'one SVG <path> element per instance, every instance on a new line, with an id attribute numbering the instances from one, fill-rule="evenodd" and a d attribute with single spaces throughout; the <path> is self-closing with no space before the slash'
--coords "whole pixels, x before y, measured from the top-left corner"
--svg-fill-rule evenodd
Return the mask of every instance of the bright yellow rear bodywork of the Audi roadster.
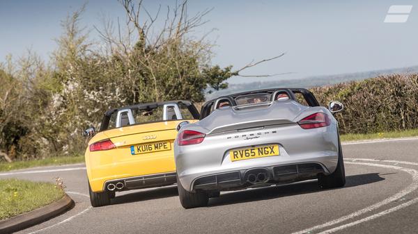
<path id="1" fill-rule="evenodd" d="M 173 120 L 114 128 L 97 133 L 88 145 L 110 139 L 116 148 L 104 151 L 86 149 L 86 170 L 93 192 L 104 191 L 106 181 L 134 176 L 176 172 L 173 142 L 176 126 L 185 121 Z M 196 119 L 187 121 L 193 123 Z M 150 142 L 167 142 L 171 149 L 134 154 L 131 147 Z"/>

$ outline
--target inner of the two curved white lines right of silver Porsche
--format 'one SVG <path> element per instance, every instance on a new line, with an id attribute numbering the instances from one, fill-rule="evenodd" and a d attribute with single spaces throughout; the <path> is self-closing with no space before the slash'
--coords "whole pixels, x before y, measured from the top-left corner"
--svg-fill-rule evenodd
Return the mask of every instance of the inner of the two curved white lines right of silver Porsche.
<path id="1" fill-rule="evenodd" d="M 356 158 L 356 160 L 362 160 L 362 158 Z M 366 159 L 366 160 L 369 160 L 369 159 Z M 376 161 L 378 161 L 378 160 L 376 160 Z M 394 194 L 391 197 L 388 197 L 387 199 L 385 199 L 383 201 L 375 203 L 375 204 L 373 204 L 371 206 L 368 206 L 366 208 L 363 208 L 361 210 L 357 210 L 357 211 L 355 211 L 355 212 L 353 212 L 349 215 L 340 217 L 339 219 L 334 219 L 334 220 L 332 220 L 330 222 L 326 222 L 324 224 L 313 226 L 311 228 L 306 228 L 302 231 L 297 231 L 293 234 L 310 233 L 311 231 L 315 231 L 315 230 L 322 229 L 322 228 L 327 228 L 329 226 L 339 224 L 341 222 L 344 222 L 348 219 L 352 219 L 352 218 L 357 217 L 359 215 L 364 215 L 367 212 L 371 212 L 372 210 L 376 210 L 377 208 L 380 208 L 381 206 L 385 206 L 388 203 L 396 201 L 396 200 L 400 199 L 401 197 L 404 197 L 406 194 L 409 194 L 410 192 L 413 192 L 414 190 L 417 190 L 417 188 L 418 188 L 418 171 L 415 170 L 415 169 L 408 169 L 408 168 L 404 168 L 404 167 L 396 167 L 396 166 L 392 166 L 392 165 L 380 165 L 380 164 L 369 163 L 369 162 L 344 162 L 344 163 L 353 164 L 353 165 L 366 165 L 366 166 L 371 166 L 371 167 L 386 167 L 386 168 L 390 168 L 390 169 L 398 169 L 398 170 L 401 170 L 403 172 L 408 172 L 408 174 L 410 174 L 412 176 L 412 183 L 408 187 L 406 187 L 404 190 L 401 190 L 401 192 L 398 192 L 398 193 Z M 366 222 L 366 221 L 367 220 L 364 220 L 363 222 Z M 339 229 L 339 230 L 341 230 L 341 229 Z"/>

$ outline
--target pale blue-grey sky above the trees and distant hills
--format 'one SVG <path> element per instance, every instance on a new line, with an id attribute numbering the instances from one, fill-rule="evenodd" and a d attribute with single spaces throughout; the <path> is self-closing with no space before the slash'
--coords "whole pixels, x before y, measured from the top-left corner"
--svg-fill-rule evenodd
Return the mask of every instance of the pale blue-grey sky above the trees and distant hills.
<path id="1" fill-rule="evenodd" d="M 56 48 L 61 20 L 86 3 L 82 26 L 101 27 L 103 16 L 125 19 L 118 1 L 1 0 L 0 62 L 28 49 L 45 60 Z M 152 13 L 176 1 L 144 0 Z M 415 6 L 416 4 L 416 6 Z M 412 5 L 405 23 L 385 23 L 392 5 Z M 212 64 L 240 68 L 251 60 L 285 56 L 245 70 L 245 75 L 291 74 L 268 78 L 233 77 L 229 83 L 304 78 L 418 65 L 418 1 L 222 1 L 190 0 L 189 15 L 212 9 L 196 37 L 212 30 Z"/>

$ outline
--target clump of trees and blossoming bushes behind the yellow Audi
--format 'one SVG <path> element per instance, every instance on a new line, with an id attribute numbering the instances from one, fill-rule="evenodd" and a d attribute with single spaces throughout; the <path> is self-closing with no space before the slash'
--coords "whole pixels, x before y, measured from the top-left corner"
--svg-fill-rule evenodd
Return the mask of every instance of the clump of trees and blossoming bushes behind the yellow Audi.
<path id="1" fill-rule="evenodd" d="M 82 153 L 82 130 L 97 127 L 110 108 L 172 99 L 201 102 L 208 87 L 225 89 L 231 76 L 278 58 L 237 70 L 212 65 L 212 44 L 192 36 L 209 10 L 189 16 L 183 1 L 169 6 L 164 25 L 156 26 L 160 10 L 151 16 L 141 3 L 121 1 L 125 24 L 96 28 L 100 42 L 91 41 L 87 28 L 80 26 L 83 6 L 62 22 L 63 35 L 49 64 L 29 52 L 16 67 L 11 60 L 1 67 L 3 158 Z"/>

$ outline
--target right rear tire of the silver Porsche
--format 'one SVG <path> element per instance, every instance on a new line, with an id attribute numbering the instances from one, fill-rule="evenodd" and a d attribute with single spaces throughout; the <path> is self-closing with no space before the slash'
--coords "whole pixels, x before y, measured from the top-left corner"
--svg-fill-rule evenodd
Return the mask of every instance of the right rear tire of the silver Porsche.
<path id="1" fill-rule="evenodd" d="M 343 187 L 346 185 L 346 169 L 344 168 L 343 152 L 341 150 L 341 142 L 339 141 L 338 162 L 336 169 L 332 174 L 325 176 L 320 174 L 318 176 L 318 185 L 321 189 L 329 189 L 334 187 Z"/>

